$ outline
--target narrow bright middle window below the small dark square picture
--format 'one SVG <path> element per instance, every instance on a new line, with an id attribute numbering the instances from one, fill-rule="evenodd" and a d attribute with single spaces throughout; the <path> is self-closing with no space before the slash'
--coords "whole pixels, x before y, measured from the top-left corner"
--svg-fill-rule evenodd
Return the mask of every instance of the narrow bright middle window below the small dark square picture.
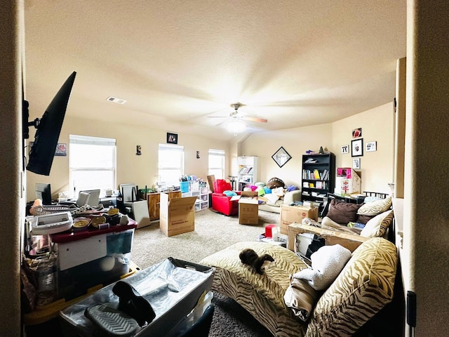
<path id="1" fill-rule="evenodd" d="M 179 186 L 184 175 L 184 147 L 159 144 L 159 182 Z"/>

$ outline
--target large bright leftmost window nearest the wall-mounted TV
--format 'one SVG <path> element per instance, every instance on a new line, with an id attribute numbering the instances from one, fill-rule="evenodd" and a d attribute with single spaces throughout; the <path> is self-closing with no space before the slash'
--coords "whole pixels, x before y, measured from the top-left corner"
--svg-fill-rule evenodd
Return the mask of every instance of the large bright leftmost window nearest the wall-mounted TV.
<path id="1" fill-rule="evenodd" d="M 70 135 L 69 141 L 70 190 L 115 190 L 116 140 Z"/>

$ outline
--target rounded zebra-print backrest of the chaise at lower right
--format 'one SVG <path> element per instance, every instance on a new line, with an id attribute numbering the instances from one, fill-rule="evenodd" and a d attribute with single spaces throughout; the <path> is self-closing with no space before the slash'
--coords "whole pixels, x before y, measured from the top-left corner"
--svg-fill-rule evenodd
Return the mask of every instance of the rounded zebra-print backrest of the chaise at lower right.
<path id="1" fill-rule="evenodd" d="M 388 240 L 363 242 L 319 298 L 305 336 L 353 336 L 393 299 L 397 263 L 396 246 Z"/>

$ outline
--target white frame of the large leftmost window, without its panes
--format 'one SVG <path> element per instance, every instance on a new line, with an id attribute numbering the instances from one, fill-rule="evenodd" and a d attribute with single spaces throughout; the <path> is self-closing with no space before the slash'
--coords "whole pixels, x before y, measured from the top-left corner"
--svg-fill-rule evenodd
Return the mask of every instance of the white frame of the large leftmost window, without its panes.
<path id="1" fill-rule="evenodd" d="M 98 146 L 108 146 L 113 147 L 112 149 L 112 158 L 111 163 L 112 166 L 86 166 L 86 162 L 83 163 L 82 167 L 79 167 L 74 163 L 74 158 L 70 157 L 70 149 L 74 145 L 95 145 L 95 147 Z M 86 147 L 86 151 L 88 151 L 88 148 Z M 97 152 L 98 153 L 98 152 Z M 87 161 L 88 162 L 88 161 Z M 109 171 L 109 176 L 112 176 L 112 181 L 110 182 L 109 187 L 100 188 L 100 196 L 105 195 L 106 189 L 112 189 L 116 190 L 116 140 L 114 138 L 102 138 L 102 137 L 93 137 L 93 136 L 80 136 L 80 135 L 69 135 L 69 188 L 70 191 L 75 191 L 75 194 L 77 194 L 80 190 L 93 190 L 98 189 L 100 186 L 98 185 L 92 185 L 92 184 L 86 184 L 83 182 L 76 182 L 74 179 L 74 173 L 79 171 L 90 171 L 92 173 L 99 173 L 104 171 Z M 109 185 L 109 184 L 108 184 Z M 76 196 L 74 196 L 76 197 Z"/>

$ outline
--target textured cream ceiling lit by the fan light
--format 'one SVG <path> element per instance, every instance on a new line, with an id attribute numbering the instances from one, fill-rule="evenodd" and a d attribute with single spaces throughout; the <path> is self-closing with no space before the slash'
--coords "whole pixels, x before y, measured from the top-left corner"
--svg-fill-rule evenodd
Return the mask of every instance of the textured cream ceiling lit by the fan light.
<path id="1" fill-rule="evenodd" d="M 25 0 L 25 53 L 33 117 L 75 70 L 67 115 L 227 139 L 391 102 L 406 0 Z"/>

